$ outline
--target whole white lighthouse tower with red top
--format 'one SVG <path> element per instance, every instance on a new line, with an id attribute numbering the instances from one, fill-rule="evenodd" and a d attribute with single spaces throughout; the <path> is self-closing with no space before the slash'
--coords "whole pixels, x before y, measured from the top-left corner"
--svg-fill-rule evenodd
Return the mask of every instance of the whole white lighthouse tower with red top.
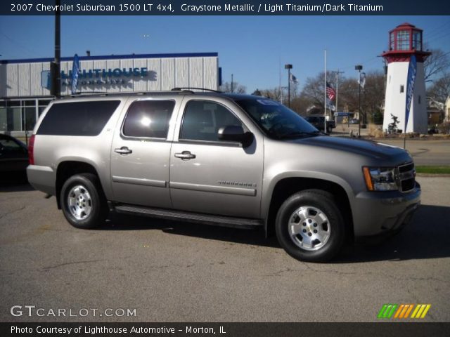
<path id="1" fill-rule="evenodd" d="M 404 23 L 389 32 L 389 51 L 382 56 L 387 62 L 385 117 L 383 130 L 398 117 L 397 128 L 406 133 L 427 133 L 427 98 L 423 62 L 430 53 L 423 51 L 422 29 Z"/>

